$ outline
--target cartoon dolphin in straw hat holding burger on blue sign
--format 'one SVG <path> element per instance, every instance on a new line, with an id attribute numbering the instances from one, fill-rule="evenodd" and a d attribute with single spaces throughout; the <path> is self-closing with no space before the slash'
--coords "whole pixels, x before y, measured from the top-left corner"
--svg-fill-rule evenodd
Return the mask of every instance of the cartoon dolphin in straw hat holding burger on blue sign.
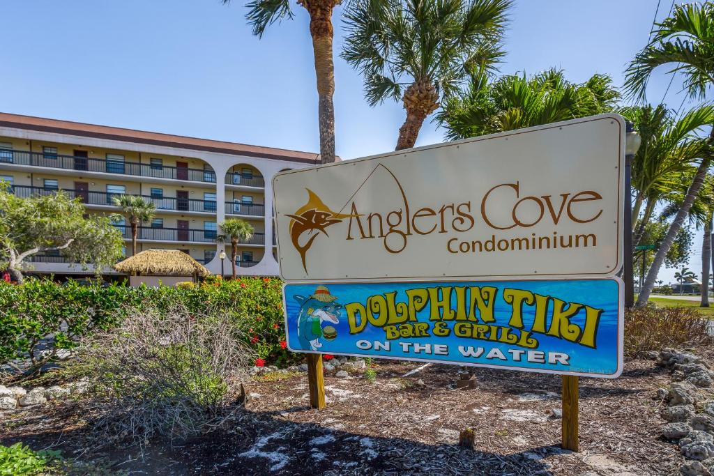
<path id="1" fill-rule="evenodd" d="M 298 313 L 300 347 L 318 350 L 322 347 L 320 343 L 320 338 L 323 337 L 322 323 L 338 324 L 343 306 L 335 302 L 337 296 L 331 295 L 330 290 L 325 286 L 318 286 L 315 293 L 307 298 L 296 295 L 295 300 L 300 303 L 300 313 Z"/>

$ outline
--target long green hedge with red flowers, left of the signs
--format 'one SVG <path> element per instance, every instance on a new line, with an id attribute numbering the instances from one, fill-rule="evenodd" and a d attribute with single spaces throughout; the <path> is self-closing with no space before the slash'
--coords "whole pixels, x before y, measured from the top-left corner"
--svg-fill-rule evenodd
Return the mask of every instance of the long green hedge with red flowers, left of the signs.
<path id="1" fill-rule="evenodd" d="M 189 287 L 130 288 L 126 285 L 80 285 L 69 280 L 26 280 L 0 284 L 0 364 L 31 360 L 38 364 L 57 349 L 71 349 L 78 338 L 97 328 L 111 328 L 126 310 L 154 306 L 166 311 L 177 304 L 201 315 L 227 313 L 246 330 L 246 340 L 261 363 L 284 365 L 294 356 L 285 350 L 281 281 L 271 278 L 208 280 Z M 54 339 L 47 336 L 54 335 Z M 46 350 L 39 353 L 49 343 Z"/>

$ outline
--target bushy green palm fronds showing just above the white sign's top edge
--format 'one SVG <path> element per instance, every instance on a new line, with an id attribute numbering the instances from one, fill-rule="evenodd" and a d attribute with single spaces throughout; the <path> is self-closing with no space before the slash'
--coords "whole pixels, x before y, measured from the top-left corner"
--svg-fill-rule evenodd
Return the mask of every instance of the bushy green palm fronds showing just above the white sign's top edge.
<path id="1" fill-rule="evenodd" d="M 446 100 L 437 120 L 446 138 L 456 140 L 613 111 L 618 97 L 609 76 L 600 74 L 579 84 L 555 69 L 493 82 L 473 76 L 466 91 Z"/>

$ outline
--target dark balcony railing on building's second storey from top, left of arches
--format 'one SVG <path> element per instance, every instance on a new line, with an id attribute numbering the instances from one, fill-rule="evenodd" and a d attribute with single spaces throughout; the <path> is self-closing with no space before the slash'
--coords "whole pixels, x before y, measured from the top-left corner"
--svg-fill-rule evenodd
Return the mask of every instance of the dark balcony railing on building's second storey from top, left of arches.
<path id="1" fill-rule="evenodd" d="M 12 190 L 16 196 L 27 198 L 29 196 L 47 196 L 56 192 L 56 190 L 44 187 L 29 187 L 16 185 L 12 186 Z M 86 205 L 114 206 L 115 197 L 120 197 L 124 193 L 106 193 L 93 192 L 85 190 L 65 190 L 71 198 L 80 198 Z M 131 195 L 131 194 L 128 194 Z M 216 201 L 212 200 L 194 200 L 192 198 L 174 198 L 174 197 L 156 197 L 143 195 L 146 200 L 154 203 L 157 211 L 186 211 L 186 212 L 201 212 L 201 213 L 216 213 Z"/>

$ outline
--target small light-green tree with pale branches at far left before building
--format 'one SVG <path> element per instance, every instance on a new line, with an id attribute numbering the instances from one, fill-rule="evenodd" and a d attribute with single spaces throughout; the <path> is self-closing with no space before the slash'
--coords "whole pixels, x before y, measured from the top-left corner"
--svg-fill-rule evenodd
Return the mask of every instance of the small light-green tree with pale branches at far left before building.
<path id="1" fill-rule="evenodd" d="M 60 251 L 71 263 L 94 263 L 100 270 L 121 258 L 121 233 L 104 216 L 86 217 L 79 199 L 57 191 L 16 197 L 0 183 L 0 268 L 22 283 L 24 260 L 36 253 Z"/>

